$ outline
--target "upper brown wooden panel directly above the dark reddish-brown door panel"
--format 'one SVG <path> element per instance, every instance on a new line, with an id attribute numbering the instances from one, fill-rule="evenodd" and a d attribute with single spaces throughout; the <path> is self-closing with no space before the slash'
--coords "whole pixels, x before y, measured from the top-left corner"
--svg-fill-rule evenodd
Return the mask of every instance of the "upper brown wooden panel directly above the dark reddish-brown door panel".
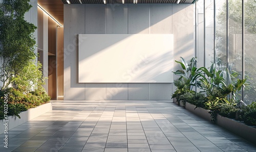
<path id="1" fill-rule="evenodd" d="M 52 55 L 56 55 L 56 39 L 57 39 L 57 24 L 48 17 L 48 52 Z"/>

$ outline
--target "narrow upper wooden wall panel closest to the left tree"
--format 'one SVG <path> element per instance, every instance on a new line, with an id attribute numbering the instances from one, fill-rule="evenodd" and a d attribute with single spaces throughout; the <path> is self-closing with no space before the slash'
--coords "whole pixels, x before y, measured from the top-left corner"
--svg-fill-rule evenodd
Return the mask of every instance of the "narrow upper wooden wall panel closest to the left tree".
<path id="1" fill-rule="evenodd" d="M 37 8 L 37 48 L 44 50 L 44 12 Z"/>

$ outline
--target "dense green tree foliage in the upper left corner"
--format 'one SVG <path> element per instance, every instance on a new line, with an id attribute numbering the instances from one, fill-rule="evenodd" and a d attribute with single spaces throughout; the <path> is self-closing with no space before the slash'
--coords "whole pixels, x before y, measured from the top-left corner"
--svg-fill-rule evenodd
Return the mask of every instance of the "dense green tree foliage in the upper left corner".
<path id="1" fill-rule="evenodd" d="M 36 58 L 33 37 L 36 27 L 24 19 L 31 7 L 29 0 L 5 0 L 0 3 L 1 89 L 10 85 L 15 75 Z"/>

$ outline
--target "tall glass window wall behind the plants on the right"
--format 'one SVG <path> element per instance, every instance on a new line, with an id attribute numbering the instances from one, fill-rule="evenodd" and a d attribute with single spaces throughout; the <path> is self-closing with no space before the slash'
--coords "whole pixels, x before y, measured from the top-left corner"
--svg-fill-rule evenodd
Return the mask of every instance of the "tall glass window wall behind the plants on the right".
<path id="1" fill-rule="evenodd" d="M 243 11 L 245 32 L 242 31 Z M 237 73 L 237 79 L 244 77 L 249 83 L 240 98 L 246 104 L 256 101 L 256 1 L 198 0 L 196 23 L 196 55 L 198 62 L 203 62 L 198 66 L 208 68 L 215 62 L 219 69 L 228 67 Z"/>

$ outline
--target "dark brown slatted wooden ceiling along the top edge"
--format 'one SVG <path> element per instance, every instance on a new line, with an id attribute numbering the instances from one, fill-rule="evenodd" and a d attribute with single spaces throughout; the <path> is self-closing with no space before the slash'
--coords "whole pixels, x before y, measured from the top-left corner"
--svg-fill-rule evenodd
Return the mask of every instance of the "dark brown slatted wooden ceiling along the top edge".
<path id="1" fill-rule="evenodd" d="M 104 4 L 103 0 L 69 0 L 71 4 Z M 137 0 L 137 4 L 176 4 L 178 0 Z M 180 0 L 180 4 L 194 3 L 195 0 Z M 63 25 L 63 4 L 66 0 L 37 0 L 37 3 Z M 122 0 L 106 0 L 107 4 L 122 4 Z M 133 0 L 124 0 L 124 3 L 133 4 Z"/>

